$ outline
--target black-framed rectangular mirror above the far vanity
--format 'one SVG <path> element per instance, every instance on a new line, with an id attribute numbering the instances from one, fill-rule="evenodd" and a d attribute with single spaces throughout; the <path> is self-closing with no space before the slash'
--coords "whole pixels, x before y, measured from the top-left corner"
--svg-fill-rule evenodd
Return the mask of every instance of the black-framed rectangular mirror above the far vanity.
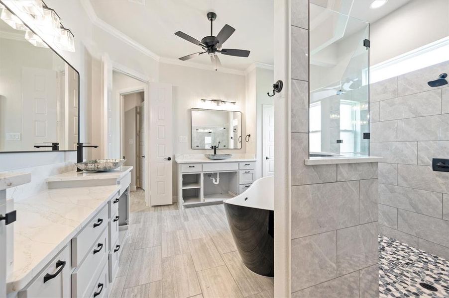
<path id="1" fill-rule="evenodd" d="M 192 149 L 241 149 L 241 112 L 192 108 L 191 119 Z"/>

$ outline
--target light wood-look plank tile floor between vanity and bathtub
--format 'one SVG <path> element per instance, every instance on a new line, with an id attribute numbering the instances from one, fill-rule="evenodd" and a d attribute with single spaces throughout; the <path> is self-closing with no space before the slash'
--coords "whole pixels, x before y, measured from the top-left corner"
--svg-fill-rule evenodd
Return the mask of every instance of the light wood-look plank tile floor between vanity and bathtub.
<path id="1" fill-rule="evenodd" d="M 145 207 L 131 192 L 129 236 L 109 298 L 272 298 L 273 279 L 247 269 L 223 205 Z"/>

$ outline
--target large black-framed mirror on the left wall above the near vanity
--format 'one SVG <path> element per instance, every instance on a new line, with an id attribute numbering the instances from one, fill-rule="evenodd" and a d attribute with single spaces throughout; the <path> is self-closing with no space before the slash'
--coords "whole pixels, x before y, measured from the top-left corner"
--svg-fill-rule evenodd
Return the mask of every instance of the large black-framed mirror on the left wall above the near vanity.
<path id="1" fill-rule="evenodd" d="M 0 20 L 0 151 L 75 150 L 79 74 L 17 24 Z"/>

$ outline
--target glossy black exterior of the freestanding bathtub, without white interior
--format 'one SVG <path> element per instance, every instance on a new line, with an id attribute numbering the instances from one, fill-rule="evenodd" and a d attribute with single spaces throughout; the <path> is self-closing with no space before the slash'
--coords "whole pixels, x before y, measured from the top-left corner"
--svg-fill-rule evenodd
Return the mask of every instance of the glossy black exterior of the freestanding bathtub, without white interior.
<path id="1" fill-rule="evenodd" d="M 224 203 L 227 222 L 243 263 L 263 276 L 274 276 L 274 212 Z"/>

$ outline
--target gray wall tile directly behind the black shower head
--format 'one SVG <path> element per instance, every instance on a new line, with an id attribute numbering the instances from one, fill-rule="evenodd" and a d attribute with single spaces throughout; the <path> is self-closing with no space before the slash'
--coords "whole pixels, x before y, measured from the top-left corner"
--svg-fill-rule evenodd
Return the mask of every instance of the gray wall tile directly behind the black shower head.
<path id="1" fill-rule="evenodd" d="M 437 65 L 429 66 L 408 74 L 398 76 L 398 96 L 409 95 L 435 89 L 430 87 L 427 82 L 436 79 L 440 74 L 447 73 L 449 61 Z M 441 88 L 441 87 L 440 87 Z"/>

